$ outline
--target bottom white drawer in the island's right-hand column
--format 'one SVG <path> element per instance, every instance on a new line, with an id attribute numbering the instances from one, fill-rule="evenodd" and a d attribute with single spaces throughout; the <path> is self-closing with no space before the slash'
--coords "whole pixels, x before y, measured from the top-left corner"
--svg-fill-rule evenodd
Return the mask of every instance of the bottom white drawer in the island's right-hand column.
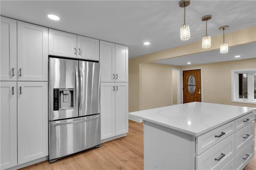
<path id="1" fill-rule="evenodd" d="M 242 170 L 254 157 L 254 139 L 235 156 L 235 170 Z"/>

